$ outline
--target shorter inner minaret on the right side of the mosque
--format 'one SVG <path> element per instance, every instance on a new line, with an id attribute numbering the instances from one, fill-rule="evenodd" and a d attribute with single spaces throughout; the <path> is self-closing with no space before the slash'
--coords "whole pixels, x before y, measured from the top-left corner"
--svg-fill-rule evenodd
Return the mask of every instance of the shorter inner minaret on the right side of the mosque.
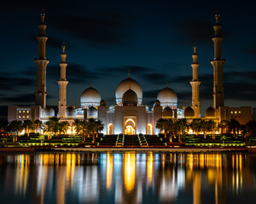
<path id="1" fill-rule="evenodd" d="M 194 45 L 194 54 L 192 54 L 193 63 L 191 64 L 193 69 L 193 79 L 190 81 L 192 87 L 192 108 L 195 111 L 195 118 L 200 117 L 200 101 L 199 101 L 199 86 L 201 82 L 198 80 L 198 54 L 196 54 L 196 47 Z"/>

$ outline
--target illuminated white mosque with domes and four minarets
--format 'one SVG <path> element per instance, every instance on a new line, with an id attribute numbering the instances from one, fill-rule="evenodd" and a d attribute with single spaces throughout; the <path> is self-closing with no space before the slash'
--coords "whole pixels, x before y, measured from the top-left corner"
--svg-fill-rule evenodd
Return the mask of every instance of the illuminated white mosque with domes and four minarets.
<path id="1" fill-rule="evenodd" d="M 72 123 L 74 119 L 96 118 L 104 123 L 105 134 L 158 134 L 159 129 L 155 127 L 156 122 L 160 118 L 170 119 L 174 121 L 180 118 L 200 118 L 200 94 L 199 87 L 201 81 L 198 77 L 197 62 L 198 54 L 194 46 L 192 54 L 193 62 L 191 64 L 193 76 L 190 81 L 192 87 L 192 103 L 189 107 L 177 107 L 177 94 L 166 85 L 166 88 L 160 90 L 157 99 L 152 108 L 143 105 L 143 89 L 137 81 L 128 77 L 116 88 L 115 105 L 106 105 L 101 94 L 91 85 L 86 88 L 80 96 L 80 107 L 67 107 L 67 78 L 66 68 L 67 62 L 65 53 L 65 45 L 63 43 L 60 63 L 60 79 L 59 84 L 59 104 L 58 113 L 55 114 L 53 108 L 46 106 L 46 67 L 49 59 L 45 57 L 46 41 L 45 36 L 46 24 L 44 22 L 45 14 L 41 14 L 41 22 L 39 23 L 38 39 L 38 58 L 34 59 L 37 65 L 37 84 L 36 84 L 36 101 L 35 105 L 17 106 L 9 105 L 8 120 L 42 120 L 46 122 L 51 116 L 58 116 L 61 121 L 67 121 L 71 125 L 69 133 L 73 133 Z M 230 120 L 236 118 L 241 124 L 245 124 L 252 120 L 252 108 L 248 106 L 229 107 L 224 106 L 224 77 L 223 67 L 225 60 L 221 54 L 221 42 L 224 37 L 221 36 L 221 25 L 218 23 L 219 15 L 215 15 L 216 23 L 213 26 L 215 35 L 212 37 L 214 43 L 214 58 L 211 60 L 213 67 L 213 107 L 207 108 L 205 119 L 220 122 L 222 120 Z"/>

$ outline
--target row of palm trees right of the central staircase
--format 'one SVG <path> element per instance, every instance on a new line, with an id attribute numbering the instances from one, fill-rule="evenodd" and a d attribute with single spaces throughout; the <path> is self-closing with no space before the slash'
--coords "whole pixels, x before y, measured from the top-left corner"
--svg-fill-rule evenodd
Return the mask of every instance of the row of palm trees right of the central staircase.
<path id="1" fill-rule="evenodd" d="M 169 135 L 169 139 L 172 142 L 172 137 L 178 134 L 178 140 L 181 141 L 181 135 L 188 133 L 189 129 L 196 135 L 199 133 L 204 134 L 204 139 L 207 138 L 207 133 L 212 134 L 212 139 L 215 139 L 215 132 L 221 130 L 221 133 L 233 133 L 234 137 L 238 133 L 242 133 L 244 137 L 251 137 L 256 135 L 256 122 L 250 121 L 245 125 L 241 125 L 236 119 L 230 121 L 221 121 L 219 123 L 212 120 L 204 120 L 201 118 L 195 118 L 192 122 L 188 122 L 187 119 L 179 119 L 173 122 L 172 119 L 160 118 L 156 126 L 161 132 L 165 133 L 165 137 Z"/>

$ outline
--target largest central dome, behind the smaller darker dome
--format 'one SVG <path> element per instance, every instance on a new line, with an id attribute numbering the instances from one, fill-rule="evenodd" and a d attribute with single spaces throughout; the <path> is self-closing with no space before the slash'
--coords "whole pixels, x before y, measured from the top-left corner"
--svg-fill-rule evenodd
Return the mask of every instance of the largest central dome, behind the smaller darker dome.
<path id="1" fill-rule="evenodd" d="M 143 102 L 143 89 L 139 85 L 138 82 L 136 82 L 134 79 L 131 77 L 126 78 L 122 82 L 119 82 L 118 87 L 116 88 L 115 91 L 115 98 L 116 98 L 116 103 L 119 105 L 122 102 L 123 95 L 125 94 L 126 91 L 131 89 L 137 94 L 137 99 L 139 105 L 142 104 Z"/>

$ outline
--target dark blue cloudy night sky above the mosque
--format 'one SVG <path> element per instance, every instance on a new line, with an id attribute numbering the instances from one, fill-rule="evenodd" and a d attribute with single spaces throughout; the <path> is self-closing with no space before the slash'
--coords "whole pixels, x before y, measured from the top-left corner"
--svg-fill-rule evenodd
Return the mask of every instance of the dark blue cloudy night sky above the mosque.
<path id="1" fill-rule="evenodd" d="M 160 89 L 190 105 L 194 41 L 199 54 L 201 114 L 212 105 L 214 14 L 223 26 L 225 105 L 256 106 L 255 3 L 224 1 L 4 1 L 1 3 L 0 105 L 33 105 L 38 23 L 45 9 L 47 105 L 58 105 L 61 44 L 66 42 L 67 105 L 80 107 L 85 88 L 96 88 L 107 105 L 131 77 L 153 105 Z M 37 1 L 38 2 L 38 1 Z M 221 2 L 221 3 L 220 3 Z"/>

